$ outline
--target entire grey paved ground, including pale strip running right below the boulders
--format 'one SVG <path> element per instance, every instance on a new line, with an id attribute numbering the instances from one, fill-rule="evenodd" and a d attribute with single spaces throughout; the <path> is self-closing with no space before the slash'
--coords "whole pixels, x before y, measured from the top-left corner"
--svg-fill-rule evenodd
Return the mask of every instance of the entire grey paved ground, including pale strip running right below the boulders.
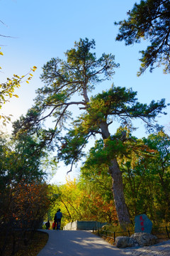
<path id="1" fill-rule="evenodd" d="M 170 256 L 170 240 L 147 247 L 119 249 L 90 231 L 40 230 L 49 240 L 37 256 Z"/>

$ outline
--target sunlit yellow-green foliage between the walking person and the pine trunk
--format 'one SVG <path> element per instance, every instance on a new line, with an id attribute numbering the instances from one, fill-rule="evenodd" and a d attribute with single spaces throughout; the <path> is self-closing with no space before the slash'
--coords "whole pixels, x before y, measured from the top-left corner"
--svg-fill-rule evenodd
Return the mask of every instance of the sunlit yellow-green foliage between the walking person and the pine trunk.
<path id="1" fill-rule="evenodd" d="M 118 223 L 118 218 L 113 203 L 113 193 L 111 193 L 111 176 L 96 175 L 96 180 L 92 177 L 89 181 L 87 170 L 81 179 L 71 181 L 67 178 L 64 185 L 52 185 L 52 191 L 57 195 L 48 215 L 50 220 L 54 219 L 58 208 L 62 209 L 62 226 L 75 220 L 96 220 L 108 223 Z"/>

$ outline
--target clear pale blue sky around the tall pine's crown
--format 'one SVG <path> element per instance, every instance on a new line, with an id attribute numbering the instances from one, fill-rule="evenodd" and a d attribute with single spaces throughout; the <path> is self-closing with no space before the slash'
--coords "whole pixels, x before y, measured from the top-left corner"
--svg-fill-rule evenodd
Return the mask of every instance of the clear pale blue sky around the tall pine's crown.
<path id="1" fill-rule="evenodd" d="M 137 1 L 140 2 L 140 1 Z M 127 18 L 127 11 L 132 9 L 134 0 L 0 0 L 1 35 L 1 82 L 13 74 L 24 75 L 33 65 L 37 66 L 30 84 L 23 83 L 16 91 L 19 98 L 13 98 L 4 105 L 4 114 L 13 114 L 13 120 L 26 114 L 33 105 L 35 90 L 42 86 L 40 74 L 42 65 L 55 57 L 64 58 L 64 52 L 74 46 L 79 38 L 96 41 L 96 55 L 112 53 L 120 68 L 109 83 L 104 82 L 96 92 L 106 90 L 114 82 L 115 86 L 132 87 L 137 91 L 138 100 L 149 103 L 151 100 L 166 98 L 170 102 L 169 75 L 164 75 L 162 68 L 153 73 L 149 70 L 140 78 L 139 50 L 145 49 L 148 42 L 125 46 L 124 42 L 116 42 L 118 27 L 114 21 Z M 99 90 L 100 88 L 100 90 Z M 158 119 L 159 124 L 169 125 L 168 114 Z M 141 126 L 141 125 L 140 125 Z M 145 130 L 138 129 L 137 137 L 144 137 Z M 63 182 L 68 168 L 62 166 L 52 182 Z M 71 175 L 77 175 L 77 171 Z"/>

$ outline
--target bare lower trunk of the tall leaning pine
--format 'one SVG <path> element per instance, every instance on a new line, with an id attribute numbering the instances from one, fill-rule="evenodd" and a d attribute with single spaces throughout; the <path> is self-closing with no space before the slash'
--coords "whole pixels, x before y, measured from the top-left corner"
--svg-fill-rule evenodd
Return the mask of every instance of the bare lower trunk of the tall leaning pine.
<path id="1" fill-rule="evenodd" d="M 111 161 L 109 171 L 112 177 L 113 197 L 115 201 L 115 209 L 117 212 L 118 221 L 120 225 L 125 225 L 130 223 L 130 217 L 123 193 L 123 178 L 116 159 Z"/>

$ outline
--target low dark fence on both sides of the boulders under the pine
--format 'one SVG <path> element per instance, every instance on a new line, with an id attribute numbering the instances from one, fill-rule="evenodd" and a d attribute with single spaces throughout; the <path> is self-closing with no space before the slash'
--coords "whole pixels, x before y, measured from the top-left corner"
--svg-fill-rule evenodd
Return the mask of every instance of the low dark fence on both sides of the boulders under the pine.
<path id="1" fill-rule="evenodd" d="M 160 227 L 160 228 L 152 228 L 152 234 L 153 235 L 157 235 L 157 238 L 170 238 L 169 237 L 169 230 L 170 227 Z M 93 230 L 94 232 L 94 230 Z M 118 236 L 129 236 L 132 235 L 134 233 L 134 230 L 127 230 L 127 231 L 120 231 L 120 232 L 114 232 L 114 231 L 110 231 L 110 230 L 102 230 L 102 229 L 98 229 L 97 230 L 98 235 L 103 235 L 106 238 L 112 238 L 115 242 L 115 238 Z"/>

